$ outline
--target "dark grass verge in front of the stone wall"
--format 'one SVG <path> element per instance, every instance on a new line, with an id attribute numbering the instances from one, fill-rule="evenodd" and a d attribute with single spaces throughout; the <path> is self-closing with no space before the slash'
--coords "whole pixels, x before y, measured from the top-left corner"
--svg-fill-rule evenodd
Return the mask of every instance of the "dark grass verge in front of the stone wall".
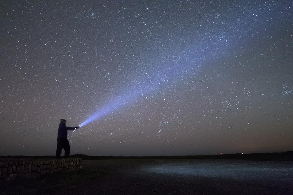
<path id="1" fill-rule="evenodd" d="M 47 194 L 90 182 L 105 175 L 98 168 L 84 168 L 78 172 L 60 172 L 42 175 L 39 179 L 12 180 L 0 184 L 0 194 Z"/>

